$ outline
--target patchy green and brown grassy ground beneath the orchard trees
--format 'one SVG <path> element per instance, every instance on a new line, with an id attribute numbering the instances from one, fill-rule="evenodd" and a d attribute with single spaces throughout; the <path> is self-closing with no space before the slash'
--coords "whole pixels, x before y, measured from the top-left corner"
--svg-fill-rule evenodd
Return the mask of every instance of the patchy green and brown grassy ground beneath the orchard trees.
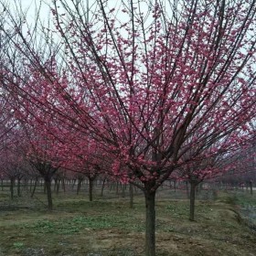
<path id="1" fill-rule="evenodd" d="M 179 192 L 163 192 L 156 203 L 156 249 L 168 255 L 253 256 L 256 233 L 239 212 L 256 206 L 255 195 L 219 193 L 216 200 L 198 200 L 197 221 L 188 220 L 188 201 Z M 52 212 L 45 195 L 9 199 L 0 191 L 0 255 L 140 256 L 144 255 L 144 198 L 54 195 Z M 179 196 L 178 196 L 179 195 Z M 112 194 L 113 196 L 113 194 Z M 244 203 L 245 202 L 245 203 Z M 240 207 L 238 207 L 240 204 Z M 255 204 L 255 205 L 254 205 Z"/>

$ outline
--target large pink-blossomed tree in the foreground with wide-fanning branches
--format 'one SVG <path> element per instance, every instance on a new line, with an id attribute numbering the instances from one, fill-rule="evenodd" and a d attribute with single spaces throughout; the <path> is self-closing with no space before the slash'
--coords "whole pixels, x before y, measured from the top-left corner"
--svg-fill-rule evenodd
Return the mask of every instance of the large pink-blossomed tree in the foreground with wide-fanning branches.
<path id="1" fill-rule="evenodd" d="M 145 255 L 154 256 L 155 191 L 187 164 L 183 155 L 195 145 L 216 155 L 253 132 L 256 4 L 94 4 L 53 1 L 55 28 L 48 31 L 62 43 L 59 54 L 48 58 L 54 69 L 16 27 L 20 41 L 14 46 L 29 76 L 21 86 L 7 70 L 5 80 L 23 99 L 53 111 L 62 125 L 90 134 L 114 156 L 115 176 L 141 181 L 134 184 L 145 197 Z"/>

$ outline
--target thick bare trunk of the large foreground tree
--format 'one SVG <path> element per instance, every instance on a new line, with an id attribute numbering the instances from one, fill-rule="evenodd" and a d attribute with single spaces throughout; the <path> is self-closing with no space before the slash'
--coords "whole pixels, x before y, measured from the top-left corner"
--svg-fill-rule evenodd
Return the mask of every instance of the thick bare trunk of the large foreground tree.
<path id="1" fill-rule="evenodd" d="M 145 256 L 155 256 L 155 191 L 144 191 Z"/>

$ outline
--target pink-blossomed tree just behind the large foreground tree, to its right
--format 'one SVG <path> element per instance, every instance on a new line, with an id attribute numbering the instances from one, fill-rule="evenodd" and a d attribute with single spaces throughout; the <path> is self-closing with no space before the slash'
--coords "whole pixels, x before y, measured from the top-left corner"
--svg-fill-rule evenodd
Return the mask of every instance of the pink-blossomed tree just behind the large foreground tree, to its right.
<path id="1" fill-rule="evenodd" d="M 240 134 L 240 139 L 242 138 L 243 140 L 237 143 L 235 141 L 230 142 L 229 135 L 220 138 L 215 143 L 208 144 L 208 137 L 205 137 L 200 142 L 198 141 L 197 144 L 190 144 L 189 148 L 185 146 L 187 148 L 186 152 L 181 156 L 183 165 L 171 175 L 171 178 L 173 176 L 179 176 L 182 180 L 185 179 L 190 184 L 190 220 L 195 220 L 196 187 L 206 179 L 223 176 L 230 169 L 236 168 L 239 162 L 234 156 L 240 150 L 244 150 L 244 148 L 250 146 L 251 141 L 255 140 L 253 130 L 251 130 L 251 136 Z M 195 136 L 197 135 L 193 134 L 193 137 Z"/>

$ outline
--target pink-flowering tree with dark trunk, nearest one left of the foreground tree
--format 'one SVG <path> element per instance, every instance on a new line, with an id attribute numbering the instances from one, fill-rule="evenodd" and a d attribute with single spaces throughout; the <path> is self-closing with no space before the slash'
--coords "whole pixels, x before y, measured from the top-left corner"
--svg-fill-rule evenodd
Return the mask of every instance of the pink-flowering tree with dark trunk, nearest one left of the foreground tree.
<path id="1" fill-rule="evenodd" d="M 25 158 L 32 169 L 44 178 L 48 209 L 52 210 L 51 181 L 64 162 L 61 151 L 63 143 L 53 135 L 56 129 L 59 129 L 58 123 L 47 113 L 39 112 L 32 101 L 26 102 L 25 105 L 18 103 L 16 99 L 18 108 L 15 104 L 13 106 L 20 131 L 23 133 Z M 40 116 L 40 120 L 37 119 L 37 115 Z"/>

